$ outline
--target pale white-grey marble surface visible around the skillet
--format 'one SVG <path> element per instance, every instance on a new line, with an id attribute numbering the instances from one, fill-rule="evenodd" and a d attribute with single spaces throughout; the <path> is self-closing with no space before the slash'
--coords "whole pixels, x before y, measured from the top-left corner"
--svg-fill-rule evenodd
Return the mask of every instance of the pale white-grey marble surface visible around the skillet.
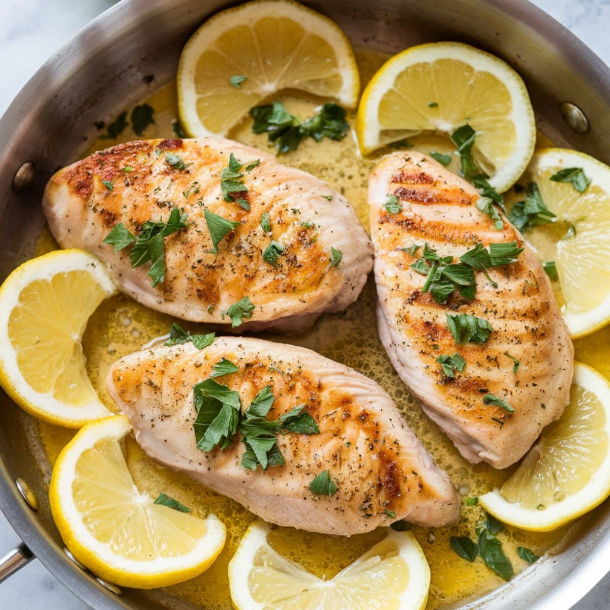
<path id="1" fill-rule="evenodd" d="M 0 62 L 0 114 L 53 51 L 114 3 L 114 0 L 0 0 L 0 57 L 3 58 Z M 569 27 L 610 63 L 610 0 L 535 0 L 534 4 Z M 0 514 L 0 554 L 17 542 L 15 532 Z M 1 587 L 1 608 L 87 608 L 37 561 L 13 575 Z M 607 576 L 576 608 L 608 610 L 609 599 L 610 576 Z"/>

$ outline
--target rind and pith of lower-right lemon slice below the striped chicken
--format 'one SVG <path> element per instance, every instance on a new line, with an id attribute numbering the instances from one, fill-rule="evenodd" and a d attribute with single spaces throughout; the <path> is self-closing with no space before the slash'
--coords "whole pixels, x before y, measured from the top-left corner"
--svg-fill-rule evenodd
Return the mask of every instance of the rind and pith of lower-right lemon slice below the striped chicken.
<path id="1" fill-rule="evenodd" d="M 552 531 L 581 517 L 586 512 L 592 511 L 610 496 L 610 382 L 589 365 L 575 362 L 573 383 L 594 392 L 605 405 L 606 425 L 604 429 L 609 439 L 605 460 L 580 492 L 565 498 L 554 508 L 544 511 L 535 511 L 527 509 L 519 503 L 507 502 L 501 496 L 500 489 L 494 489 L 479 496 L 479 502 L 483 508 L 501 522 L 527 531 Z M 586 501 L 583 498 L 586 498 Z"/>

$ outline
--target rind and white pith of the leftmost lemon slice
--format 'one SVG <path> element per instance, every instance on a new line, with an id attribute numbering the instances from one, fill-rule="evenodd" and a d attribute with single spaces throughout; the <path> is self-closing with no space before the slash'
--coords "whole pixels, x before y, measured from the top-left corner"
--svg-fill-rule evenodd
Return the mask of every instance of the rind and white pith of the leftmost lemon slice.
<path id="1" fill-rule="evenodd" d="M 68 271 L 88 271 L 107 296 L 117 292 L 106 267 L 92 254 L 79 249 L 56 250 L 17 267 L 0 287 L 0 384 L 24 411 L 46 422 L 66 428 L 80 428 L 87 422 L 107 417 L 110 411 L 97 400 L 81 406 L 69 406 L 49 394 L 36 392 L 21 375 L 15 350 L 9 339 L 9 318 L 18 304 L 21 290 L 37 279 L 51 279 Z"/>

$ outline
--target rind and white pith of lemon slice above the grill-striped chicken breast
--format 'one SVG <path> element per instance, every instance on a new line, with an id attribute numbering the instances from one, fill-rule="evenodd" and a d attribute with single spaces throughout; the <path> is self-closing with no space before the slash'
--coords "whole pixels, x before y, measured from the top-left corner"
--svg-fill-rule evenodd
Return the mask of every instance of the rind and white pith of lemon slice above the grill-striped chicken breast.
<path id="1" fill-rule="evenodd" d="M 366 129 L 370 121 L 370 112 L 377 111 L 381 98 L 395 82 L 396 77 L 407 66 L 414 63 L 434 62 L 438 59 L 456 59 L 467 61 L 475 70 L 487 71 L 503 82 L 512 98 L 512 112 L 509 115 L 517 134 L 515 149 L 506 163 L 489 179 L 490 184 L 499 192 L 508 190 L 523 173 L 534 153 L 536 145 L 536 119 L 529 101 L 529 94 L 522 77 L 499 57 L 473 46 L 458 42 L 437 42 L 413 46 L 387 60 L 379 68 L 362 93 L 356 119 L 356 133 L 362 154 L 370 154 L 384 143 L 379 134 L 372 134 Z M 526 101 L 526 103 L 519 103 Z M 376 123 L 376 118 L 374 119 Z M 522 126 L 529 129 L 522 129 Z M 456 129 L 459 125 L 453 126 Z M 519 160 L 520 159 L 520 160 Z"/>

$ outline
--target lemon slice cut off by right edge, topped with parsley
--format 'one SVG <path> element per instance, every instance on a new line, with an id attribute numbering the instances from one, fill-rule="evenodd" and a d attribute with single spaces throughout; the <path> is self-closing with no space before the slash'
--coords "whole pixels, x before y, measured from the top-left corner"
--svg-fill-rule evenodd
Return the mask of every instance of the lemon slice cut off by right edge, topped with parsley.
<path id="1" fill-rule="evenodd" d="M 583 193 L 570 183 L 551 181 L 567 168 L 582 168 L 590 179 Z M 562 313 L 572 337 L 583 337 L 610 321 L 610 167 L 582 152 L 545 148 L 536 151 L 523 181 L 536 182 L 557 216 L 555 227 L 545 225 L 542 231 L 561 229 L 554 260 L 565 300 Z"/>

